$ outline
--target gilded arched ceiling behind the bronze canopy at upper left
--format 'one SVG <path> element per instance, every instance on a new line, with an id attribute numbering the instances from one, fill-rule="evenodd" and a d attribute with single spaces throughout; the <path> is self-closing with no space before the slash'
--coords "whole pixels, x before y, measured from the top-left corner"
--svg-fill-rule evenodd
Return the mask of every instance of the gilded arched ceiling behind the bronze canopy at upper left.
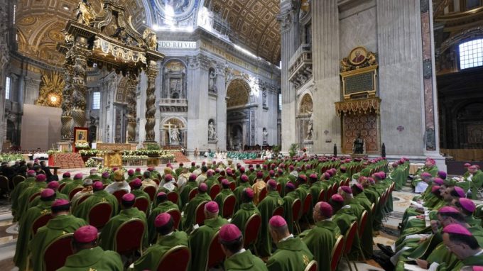
<path id="1" fill-rule="evenodd" d="M 101 1 L 89 1 L 96 12 Z M 57 44 L 64 40 L 62 31 L 67 20 L 75 18 L 78 0 L 19 0 L 16 7 L 18 52 L 50 65 L 63 65 L 64 57 L 57 52 Z M 142 0 L 119 0 L 132 16 L 135 27 L 146 19 Z"/>

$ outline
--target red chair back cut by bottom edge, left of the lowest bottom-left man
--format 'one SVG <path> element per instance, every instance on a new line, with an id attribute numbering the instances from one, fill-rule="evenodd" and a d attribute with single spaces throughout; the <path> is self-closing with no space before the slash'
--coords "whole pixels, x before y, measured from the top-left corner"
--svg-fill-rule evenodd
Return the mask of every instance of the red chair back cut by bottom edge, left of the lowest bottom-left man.
<path id="1" fill-rule="evenodd" d="M 55 271 L 65 265 L 67 257 L 74 254 L 72 250 L 72 238 L 74 233 L 67 233 L 55 238 L 43 253 L 43 270 Z"/>

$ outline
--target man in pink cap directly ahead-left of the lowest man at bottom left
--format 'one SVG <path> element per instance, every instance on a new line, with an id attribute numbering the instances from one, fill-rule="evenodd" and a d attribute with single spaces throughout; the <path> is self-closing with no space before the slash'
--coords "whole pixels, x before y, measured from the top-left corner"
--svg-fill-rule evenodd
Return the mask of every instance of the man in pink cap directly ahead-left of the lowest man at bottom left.
<path id="1" fill-rule="evenodd" d="M 65 199 L 54 201 L 50 210 L 53 219 L 50 219 L 45 226 L 40 227 L 28 243 L 33 271 L 43 270 L 43 253 L 55 238 L 65 233 L 73 233 L 77 228 L 87 225 L 84 219 L 79 219 L 70 214 L 70 202 Z"/>

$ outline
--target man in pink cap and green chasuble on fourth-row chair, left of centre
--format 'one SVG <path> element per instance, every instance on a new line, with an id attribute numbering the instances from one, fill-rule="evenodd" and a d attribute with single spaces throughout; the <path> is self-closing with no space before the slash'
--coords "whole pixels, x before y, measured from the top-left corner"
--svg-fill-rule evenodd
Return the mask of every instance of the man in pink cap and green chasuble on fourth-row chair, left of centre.
<path id="1" fill-rule="evenodd" d="M 104 250 L 114 250 L 116 243 L 116 231 L 122 223 L 131 219 L 139 219 L 144 224 L 144 236 L 143 247 L 148 246 L 148 227 L 146 222 L 146 214 L 143 211 L 139 211 L 134 207 L 136 196 L 134 194 L 124 194 L 121 199 L 121 211 L 118 215 L 114 216 L 109 222 L 102 228 L 101 235 L 99 236 L 99 245 Z"/>

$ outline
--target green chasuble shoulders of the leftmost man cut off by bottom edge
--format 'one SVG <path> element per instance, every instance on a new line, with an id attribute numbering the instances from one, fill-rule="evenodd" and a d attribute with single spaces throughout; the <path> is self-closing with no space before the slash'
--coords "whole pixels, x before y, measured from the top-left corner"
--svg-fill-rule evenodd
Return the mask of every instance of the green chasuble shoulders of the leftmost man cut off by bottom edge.
<path id="1" fill-rule="evenodd" d="M 70 255 L 65 260 L 64 267 L 57 271 L 123 271 L 124 265 L 121 256 L 111 250 L 102 250 L 95 247 L 91 249 L 80 250 L 74 255 Z"/>

